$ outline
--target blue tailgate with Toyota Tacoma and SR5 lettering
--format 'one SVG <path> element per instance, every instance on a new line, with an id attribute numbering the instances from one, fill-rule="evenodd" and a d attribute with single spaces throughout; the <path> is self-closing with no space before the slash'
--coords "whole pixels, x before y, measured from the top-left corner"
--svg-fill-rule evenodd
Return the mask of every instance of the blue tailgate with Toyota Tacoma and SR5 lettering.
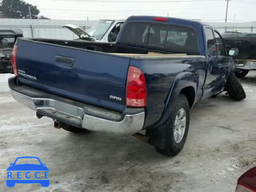
<path id="1" fill-rule="evenodd" d="M 102 52 L 18 41 L 18 79 L 22 84 L 116 111 L 125 108 L 129 62 L 129 58 Z"/>

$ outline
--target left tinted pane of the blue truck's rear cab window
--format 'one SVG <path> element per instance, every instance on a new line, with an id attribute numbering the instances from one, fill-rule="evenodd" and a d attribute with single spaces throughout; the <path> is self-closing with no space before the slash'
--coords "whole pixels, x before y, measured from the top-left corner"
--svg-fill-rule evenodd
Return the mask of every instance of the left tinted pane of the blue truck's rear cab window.
<path id="1" fill-rule="evenodd" d="M 148 23 L 130 22 L 124 26 L 120 42 L 132 45 L 144 45 L 147 40 L 148 28 Z"/>

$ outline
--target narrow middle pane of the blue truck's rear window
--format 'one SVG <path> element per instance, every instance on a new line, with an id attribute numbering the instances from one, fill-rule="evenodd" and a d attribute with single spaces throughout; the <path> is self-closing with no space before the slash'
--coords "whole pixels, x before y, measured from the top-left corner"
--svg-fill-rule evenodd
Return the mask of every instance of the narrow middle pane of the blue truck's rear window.
<path id="1" fill-rule="evenodd" d="M 167 26 L 166 25 L 150 25 L 148 44 L 164 47 L 164 41 L 166 37 Z"/>

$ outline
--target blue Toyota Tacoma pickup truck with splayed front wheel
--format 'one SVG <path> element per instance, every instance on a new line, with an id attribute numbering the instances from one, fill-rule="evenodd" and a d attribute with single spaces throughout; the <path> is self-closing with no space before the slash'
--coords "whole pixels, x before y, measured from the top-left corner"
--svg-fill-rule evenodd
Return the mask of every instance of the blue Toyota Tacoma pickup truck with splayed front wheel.
<path id="1" fill-rule="evenodd" d="M 134 134 L 175 156 L 192 106 L 222 91 L 246 97 L 234 76 L 237 53 L 201 22 L 131 16 L 116 43 L 19 38 L 8 83 L 17 101 L 55 128 Z"/>

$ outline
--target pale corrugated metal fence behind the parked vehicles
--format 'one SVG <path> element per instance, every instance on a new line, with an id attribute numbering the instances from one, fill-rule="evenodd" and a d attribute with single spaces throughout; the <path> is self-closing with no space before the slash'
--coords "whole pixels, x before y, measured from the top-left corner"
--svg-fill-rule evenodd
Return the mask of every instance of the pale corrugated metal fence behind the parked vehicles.
<path id="1" fill-rule="evenodd" d="M 24 37 L 34 38 L 52 38 L 52 39 L 76 39 L 74 33 L 66 28 L 62 28 L 65 24 L 73 24 L 84 28 L 85 30 L 95 24 L 96 21 L 78 21 L 78 20 L 30 20 L 30 19 L 0 19 L 1 28 L 18 28 L 22 29 Z M 256 32 L 256 23 L 207 23 L 217 28 L 220 33 L 225 31 L 238 32 Z"/>

